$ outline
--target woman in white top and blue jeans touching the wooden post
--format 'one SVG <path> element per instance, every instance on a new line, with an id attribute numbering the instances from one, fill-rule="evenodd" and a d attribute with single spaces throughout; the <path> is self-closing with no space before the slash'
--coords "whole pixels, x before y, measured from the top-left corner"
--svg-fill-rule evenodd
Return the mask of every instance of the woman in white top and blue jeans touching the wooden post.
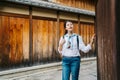
<path id="1" fill-rule="evenodd" d="M 62 80 L 78 80 L 80 69 L 80 53 L 79 50 L 87 53 L 91 50 L 94 36 L 90 43 L 85 46 L 81 36 L 73 33 L 73 23 L 66 21 L 64 24 L 65 35 L 60 38 L 58 51 L 62 56 Z"/>

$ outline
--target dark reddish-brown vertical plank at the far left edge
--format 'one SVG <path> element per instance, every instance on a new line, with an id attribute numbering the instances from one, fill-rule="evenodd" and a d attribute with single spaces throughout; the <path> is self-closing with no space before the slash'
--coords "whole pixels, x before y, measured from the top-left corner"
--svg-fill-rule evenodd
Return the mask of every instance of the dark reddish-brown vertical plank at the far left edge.
<path id="1" fill-rule="evenodd" d="M 9 66 L 9 18 L 7 16 L 1 16 L 1 67 Z"/>

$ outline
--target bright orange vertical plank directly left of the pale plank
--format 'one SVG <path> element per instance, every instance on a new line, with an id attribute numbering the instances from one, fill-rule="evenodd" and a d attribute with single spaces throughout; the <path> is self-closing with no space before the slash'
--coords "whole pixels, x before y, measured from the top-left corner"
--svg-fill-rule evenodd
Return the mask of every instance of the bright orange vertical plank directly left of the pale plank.
<path id="1" fill-rule="evenodd" d="M 23 22 L 23 19 L 17 18 L 17 24 L 16 24 L 16 61 L 17 63 L 20 63 L 22 61 L 23 56 L 23 25 L 21 24 Z"/>

